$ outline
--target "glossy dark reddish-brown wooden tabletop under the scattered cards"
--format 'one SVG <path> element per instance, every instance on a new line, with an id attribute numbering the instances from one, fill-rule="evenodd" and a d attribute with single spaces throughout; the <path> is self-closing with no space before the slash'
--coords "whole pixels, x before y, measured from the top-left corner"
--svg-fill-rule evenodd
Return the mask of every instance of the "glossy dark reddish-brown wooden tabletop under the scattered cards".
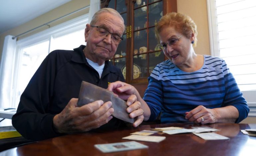
<path id="1" fill-rule="evenodd" d="M 192 126 L 208 126 L 219 129 L 216 133 L 229 137 L 227 140 L 204 140 L 192 133 L 169 135 L 155 133 L 154 136 L 166 136 L 159 142 L 137 141 L 147 145 L 148 149 L 139 149 L 123 152 L 102 153 L 97 150 L 95 144 L 126 142 L 122 137 L 132 132 L 150 130 L 156 127 L 179 126 L 191 128 Z M 214 124 L 151 124 L 140 125 L 137 128 L 126 127 L 115 131 L 87 132 L 60 136 L 52 139 L 31 143 L 5 150 L 0 155 L 210 155 L 210 156 L 236 156 L 256 155 L 256 136 L 243 134 L 240 129 L 256 129 L 256 124 L 214 123 Z"/>

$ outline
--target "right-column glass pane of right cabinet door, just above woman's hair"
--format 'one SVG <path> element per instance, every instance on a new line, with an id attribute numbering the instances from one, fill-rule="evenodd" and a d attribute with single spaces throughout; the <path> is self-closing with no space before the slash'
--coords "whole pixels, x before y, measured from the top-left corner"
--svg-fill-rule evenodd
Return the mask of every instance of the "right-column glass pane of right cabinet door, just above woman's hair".
<path id="1" fill-rule="evenodd" d="M 163 16 L 163 2 L 149 5 L 149 27 L 155 26 Z"/>

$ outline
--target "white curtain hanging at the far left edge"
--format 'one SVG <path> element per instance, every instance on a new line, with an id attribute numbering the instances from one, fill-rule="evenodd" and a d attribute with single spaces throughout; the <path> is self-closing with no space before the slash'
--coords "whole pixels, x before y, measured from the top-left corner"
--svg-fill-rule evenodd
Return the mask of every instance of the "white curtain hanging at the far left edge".
<path id="1" fill-rule="evenodd" d="M 4 47 L 0 64 L 0 108 L 11 107 L 12 75 L 15 60 L 16 38 L 8 35 L 4 39 Z"/>

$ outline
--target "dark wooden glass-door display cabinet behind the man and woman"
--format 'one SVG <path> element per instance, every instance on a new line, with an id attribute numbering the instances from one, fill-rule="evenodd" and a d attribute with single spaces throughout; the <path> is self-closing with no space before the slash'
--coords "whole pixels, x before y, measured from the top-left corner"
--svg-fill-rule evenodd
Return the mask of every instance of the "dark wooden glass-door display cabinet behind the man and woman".
<path id="1" fill-rule="evenodd" d="M 143 97 L 152 70 L 167 59 L 155 37 L 155 25 L 166 13 L 177 12 L 177 0 L 101 0 L 101 8 L 105 7 L 117 10 L 125 24 L 123 40 L 109 61 Z"/>

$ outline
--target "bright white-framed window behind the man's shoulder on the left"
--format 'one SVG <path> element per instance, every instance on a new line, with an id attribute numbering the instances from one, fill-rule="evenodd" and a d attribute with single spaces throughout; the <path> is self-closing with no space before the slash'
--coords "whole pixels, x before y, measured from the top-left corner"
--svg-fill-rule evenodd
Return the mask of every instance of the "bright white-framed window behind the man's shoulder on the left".
<path id="1" fill-rule="evenodd" d="M 10 107 L 17 108 L 20 96 L 45 57 L 53 50 L 72 50 L 85 44 L 84 29 L 88 15 L 72 19 L 58 26 L 17 41 Z"/>

